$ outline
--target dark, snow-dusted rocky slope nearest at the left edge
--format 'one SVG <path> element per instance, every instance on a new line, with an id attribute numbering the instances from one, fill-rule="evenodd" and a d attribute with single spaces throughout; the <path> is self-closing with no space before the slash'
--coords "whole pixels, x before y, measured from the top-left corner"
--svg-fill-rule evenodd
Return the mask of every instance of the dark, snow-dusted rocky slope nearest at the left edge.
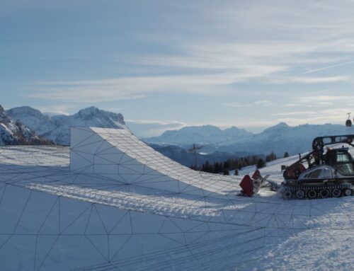
<path id="1" fill-rule="evenodd" d="M 47 145 L 50 140 L 38 136 L 21 122 L 14 122 L 0 105 L 0 145 Z"/>

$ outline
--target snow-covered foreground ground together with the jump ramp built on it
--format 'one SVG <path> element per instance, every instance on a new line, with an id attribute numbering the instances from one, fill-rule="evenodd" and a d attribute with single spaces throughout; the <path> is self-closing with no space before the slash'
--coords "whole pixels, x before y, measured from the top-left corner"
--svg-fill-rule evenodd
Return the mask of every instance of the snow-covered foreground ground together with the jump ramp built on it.
<path id="1" fill-rule="evenodd" d="M 281 182 L 296 159 L 261 171 Z M 121 130 L 74 128 L 72 150 L 1 146 L 0 270 L 352 269 L 354 197 L 238 197 L 241 178 L 194 173 Z"/>

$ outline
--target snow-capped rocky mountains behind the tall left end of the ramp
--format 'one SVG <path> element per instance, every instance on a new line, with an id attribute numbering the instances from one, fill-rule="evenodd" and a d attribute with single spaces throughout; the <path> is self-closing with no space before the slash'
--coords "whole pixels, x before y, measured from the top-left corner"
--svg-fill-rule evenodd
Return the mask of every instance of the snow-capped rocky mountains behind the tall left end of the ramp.
<path id="1" fill-rule="evenodd" d="M 123 128 L 125 122 L 122 114 L 100 110 L 95 107 L 79 110 L 74 115 L 47 116 L 28 106 L 12 108 L 6 113 L 13 120 L 20 120 L 42 137 L 57 144 L 69 145 L 69 133 L 72 126 L 93 126 L 105 128 Z"/>

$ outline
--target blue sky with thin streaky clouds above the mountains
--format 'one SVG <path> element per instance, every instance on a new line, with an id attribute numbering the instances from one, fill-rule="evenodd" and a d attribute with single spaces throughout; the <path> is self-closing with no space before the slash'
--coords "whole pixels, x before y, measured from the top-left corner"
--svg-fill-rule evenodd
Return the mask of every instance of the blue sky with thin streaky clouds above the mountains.
<path id="1" fill-rule="evenodd" d="M 7 109 L 93 105 L 142 136 L 354 113 L 354 1 L 0 1 Z"/>

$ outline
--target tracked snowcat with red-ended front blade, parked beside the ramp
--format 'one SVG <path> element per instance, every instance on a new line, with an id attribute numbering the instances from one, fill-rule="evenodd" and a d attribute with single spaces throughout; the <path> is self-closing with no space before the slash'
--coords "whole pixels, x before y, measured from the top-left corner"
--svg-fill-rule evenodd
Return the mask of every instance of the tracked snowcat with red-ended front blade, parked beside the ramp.
<path id="1" fill-rule="evenodd" d="M 273 190 L 279 190 L 285 200 L 353 195 L 354 159 L 348 147 L 338 146 L 354 146 L 353 141 L 354 134 L 316 137 L 309 154 L 299 156 L 291 166 L 282 166 L 285 180 L 281 185 L 266 180 L 268 176 L 263 178 L 258 172 L 252 178 L 246 175 L 241 181 L 242 194 L 251 197 L 263 183 L 268 183 Z"/>

